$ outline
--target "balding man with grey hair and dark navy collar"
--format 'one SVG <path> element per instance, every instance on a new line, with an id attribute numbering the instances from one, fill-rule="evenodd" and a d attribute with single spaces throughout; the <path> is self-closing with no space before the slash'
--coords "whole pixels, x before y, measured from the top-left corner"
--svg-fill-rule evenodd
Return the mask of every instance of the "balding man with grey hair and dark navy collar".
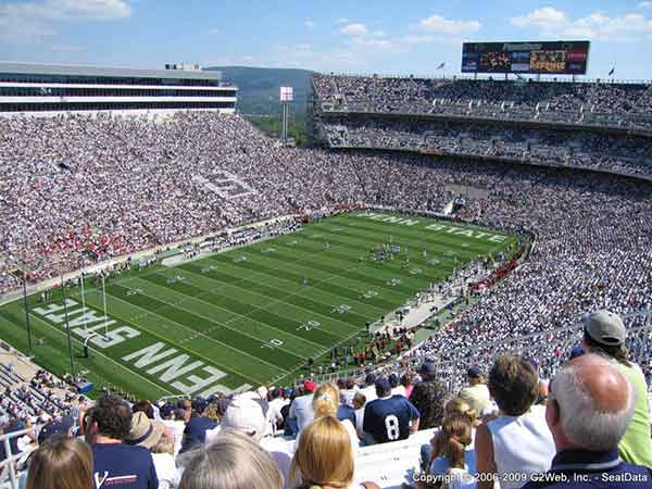
<path id="1" fill-rule="evenodd" d="M 523 489 L 652 488 L 650 468 L 618 456 L 635 401 L 631 384 L 609 361 L 594 354 L 575 359 L 550 384 L 546 422 L 556 455 L 550 471 Z"/>

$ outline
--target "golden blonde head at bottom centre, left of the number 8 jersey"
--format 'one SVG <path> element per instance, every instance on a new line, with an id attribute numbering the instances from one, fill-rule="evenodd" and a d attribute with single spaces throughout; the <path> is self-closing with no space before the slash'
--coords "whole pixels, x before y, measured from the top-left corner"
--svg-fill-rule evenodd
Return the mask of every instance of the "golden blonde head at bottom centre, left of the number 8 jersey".
<path id="1" fill-rule="evenodd" d="M 290 466 L 290 480 L 313 488 L 344 488 L 353 480 L 353 450 L 347 428 L 333 416 L 303 429 Z"/>

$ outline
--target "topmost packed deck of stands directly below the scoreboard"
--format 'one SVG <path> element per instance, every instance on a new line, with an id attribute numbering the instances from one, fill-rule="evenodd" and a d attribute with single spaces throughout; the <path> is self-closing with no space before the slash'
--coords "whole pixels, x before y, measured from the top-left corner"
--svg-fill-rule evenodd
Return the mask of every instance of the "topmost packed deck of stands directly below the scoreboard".
<path id="1" fill-rule="evenodd" d="M 652 127 L 652 90 L 645 83 L 316 75 L 313 85 L 319 108 L 326 112 L 443 114 Z"/>

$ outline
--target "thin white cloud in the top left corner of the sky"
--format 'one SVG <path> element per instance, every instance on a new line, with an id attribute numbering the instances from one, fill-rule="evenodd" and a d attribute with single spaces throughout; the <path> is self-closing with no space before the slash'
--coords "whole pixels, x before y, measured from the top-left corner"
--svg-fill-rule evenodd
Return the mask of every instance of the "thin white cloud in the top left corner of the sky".
<path id="1" fill-rule="evenodd" d="M 131 15 L 126 0 L 33 0 L 0 4 L 0 39 L 38 42 L 58 22 L 118 21 Z"/>

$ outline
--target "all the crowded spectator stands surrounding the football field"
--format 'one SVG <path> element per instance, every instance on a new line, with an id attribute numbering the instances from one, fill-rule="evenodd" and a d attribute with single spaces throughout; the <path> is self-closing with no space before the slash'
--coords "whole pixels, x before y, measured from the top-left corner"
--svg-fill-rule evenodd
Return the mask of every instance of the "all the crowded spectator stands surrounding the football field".
<path id="1" fill-rule="evenodd" d="M 428 112 L 481 100 L 560 117 L 611 112 L 625 125 L 652 108 L 649 86 L 636 84 L 314 83 L 323 101 L 347 110 Z M 499 134 L 467 124 L 461 136 L 452 123 L 404 122 L 327 129 L 340 147 L 405 149 L 402 141 L 413 141 L 462 147 L 456 152 L 466 155 L 527 153 L 543 163 L 652 173 L 640 162 L 650 149 L 642 137 L 582 133 L 555 152 L 562 136 L 552 130 Z M 649 181 L 499 161 L 288 149 L 239 116 L 208 113 L 5 120 L 0 149 L 0 292 L 18 288 L 10 274 L 16 265 L 37 283 L 340 204 L 441 212 L 456 196 L 452 186 L 484 190 L 453 218 L 534 237 L 528 259 L 478 287 L 477 301 L 451 324 L 339 387 L 305 379 L 209 399 L 127 403 L 102 393 L 91 403 L 71 389 L 55 393 L 65 386 L 46 372 L 26 380 L 2 367 L 3 432 L 36 425 L 10 450 L 22 455 L 22 487 L 58 488 L 54 477 L 86 489 L 529 489 L 552 486 L 538 479 L 549 471 L 560 487 L 573 474 L 587 486 L 603 474 L 629 474 L 636 487 L 652 487 Z M 291 221 L 279 223 L 269 233 L 292 230 Z"/>

